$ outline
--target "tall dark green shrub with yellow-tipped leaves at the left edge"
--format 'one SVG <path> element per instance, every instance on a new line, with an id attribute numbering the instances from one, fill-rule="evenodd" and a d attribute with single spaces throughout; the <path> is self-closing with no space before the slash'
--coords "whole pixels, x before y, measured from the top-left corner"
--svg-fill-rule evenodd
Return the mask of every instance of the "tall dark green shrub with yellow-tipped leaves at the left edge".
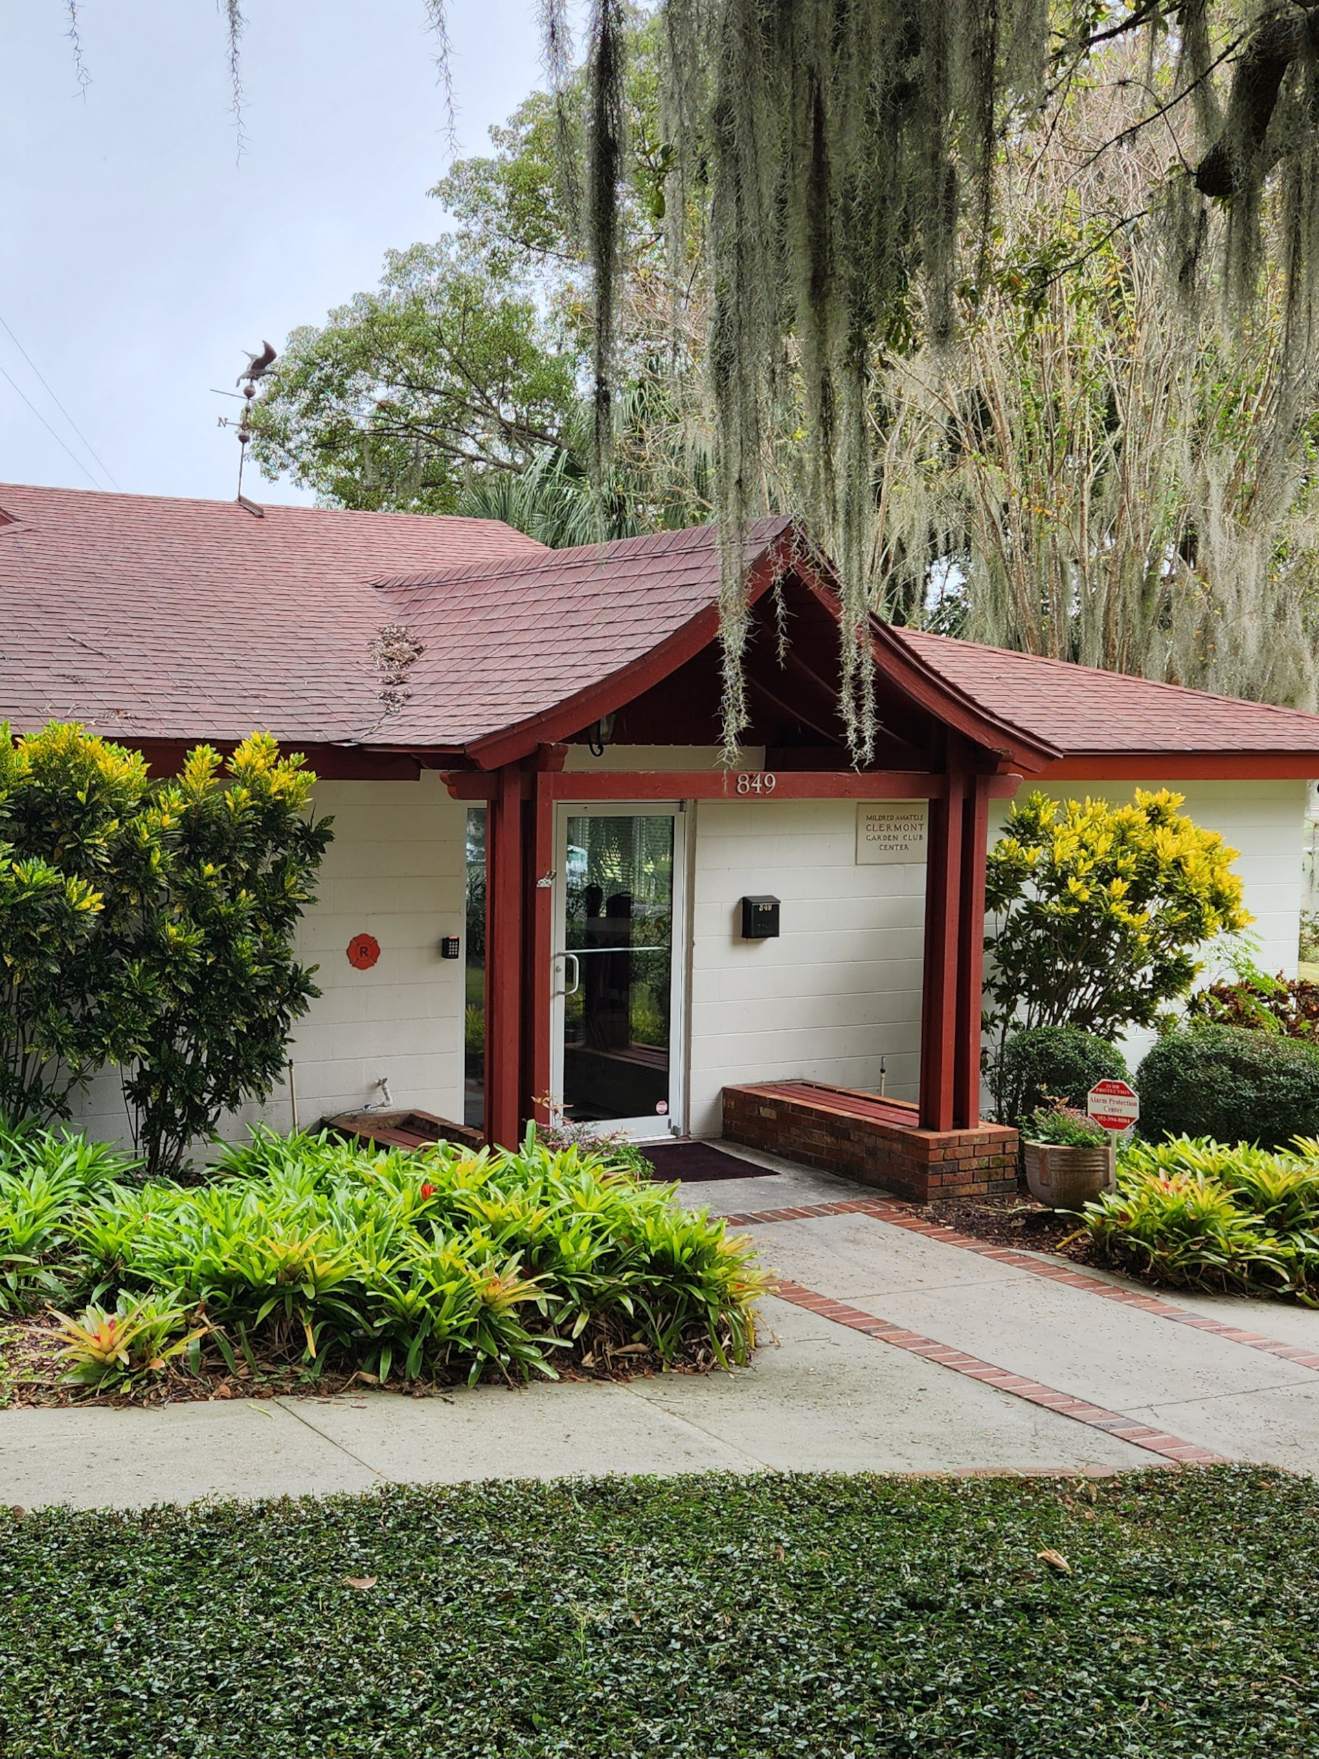
<path id="1" fill-rule="evenodd" d="M 125 1069 L 151 1173 L 280 1078 L 318 990 L 292 955 L 331 839 L 269 734 L 155 781 L 135 751 L 0 726 L 0 1108 L 70 1115 Z"/>

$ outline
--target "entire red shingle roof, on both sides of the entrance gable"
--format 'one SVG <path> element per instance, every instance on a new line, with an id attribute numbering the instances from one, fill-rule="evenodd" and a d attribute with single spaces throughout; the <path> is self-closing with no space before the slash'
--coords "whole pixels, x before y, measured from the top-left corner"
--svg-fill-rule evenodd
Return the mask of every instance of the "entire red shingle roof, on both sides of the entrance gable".
<path id="1" fill-rule="evenodd" d="M 705 642 L 719 595 L 711 526 L 547 551 L 487 519 L 257 517 L 74 489 L 0 485 L 0 719 L 18 730 L 77 719 L 127 741 L 230 741 L 260 726 L 295 746 L 452 751 L 522 728 L 514 755 L 568 704 L 563 737 L 577 697 L 661 644 Z M 747 566 L 788 524 L 751 526 Z M 415 651 L 392 684 L 373 653 L 385 626 Z M 969 718 L 990 749 L 1006 725 L 1041 755 L 1314 753 L 1319 774 L 1319 716 L 913 630 L 876 639 L 899 688 Z"/>

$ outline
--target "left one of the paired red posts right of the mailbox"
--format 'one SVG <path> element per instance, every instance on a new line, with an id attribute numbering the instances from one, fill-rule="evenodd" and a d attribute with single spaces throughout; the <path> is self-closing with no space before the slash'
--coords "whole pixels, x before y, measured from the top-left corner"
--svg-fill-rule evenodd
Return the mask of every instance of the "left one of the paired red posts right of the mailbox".
<path id="1" fill-rule="evenodd" d="M 962 890 L 966 776 L 950 772 L 948 793 L 930 800 L 925 860 L 925 969 L 920 999 L 920 1126 L 953 1128 L 957 1064 L 957 943 Z"/>

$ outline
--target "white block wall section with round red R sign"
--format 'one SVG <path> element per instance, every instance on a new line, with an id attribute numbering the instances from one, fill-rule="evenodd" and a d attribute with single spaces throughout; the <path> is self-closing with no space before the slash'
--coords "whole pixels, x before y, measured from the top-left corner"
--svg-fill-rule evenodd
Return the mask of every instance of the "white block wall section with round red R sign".
<path id="1" fill-rule="evenodd" d="M 382 1103 L 463 1119 L 464 962 L 441 959 L 440 939 L 464 938 L 466 806 L 440 776 L 419 781 L 327 781 L 315 811 L 332 814 L 318 902 L 299 927 L 297 957 L 318 964 L 318 1001 L 299 1020 L 290 1057 L 306 1128 L 332 1112 Z M 380 941 L 369 971 L 348 964 L 355 934 Z M 466 939 L 463 939 L 466 953 Z M 257 1120 L 292 1126 L 287 1085 L 266 1106 L 230 1113 L 222 1135 L 241 1140 Z M 76 1110 L 91 1136 L 128 1142 L 116 1069 L 100 1075 Z"/>

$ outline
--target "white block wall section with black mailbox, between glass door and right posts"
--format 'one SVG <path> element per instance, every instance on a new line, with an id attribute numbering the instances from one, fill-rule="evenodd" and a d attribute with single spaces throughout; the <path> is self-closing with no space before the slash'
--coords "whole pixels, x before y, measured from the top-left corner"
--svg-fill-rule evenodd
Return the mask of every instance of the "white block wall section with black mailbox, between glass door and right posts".
<path id="1" fill-rule="evenodd" d="M 689 1120 L 719 1091 L 835 1082 L 916 1098 L 925 864 L 856 864 L 855 800 L 700 800 L 691 899 Z M 781 934 L 744 941 L 739 901 L 781 899 Z"/>

